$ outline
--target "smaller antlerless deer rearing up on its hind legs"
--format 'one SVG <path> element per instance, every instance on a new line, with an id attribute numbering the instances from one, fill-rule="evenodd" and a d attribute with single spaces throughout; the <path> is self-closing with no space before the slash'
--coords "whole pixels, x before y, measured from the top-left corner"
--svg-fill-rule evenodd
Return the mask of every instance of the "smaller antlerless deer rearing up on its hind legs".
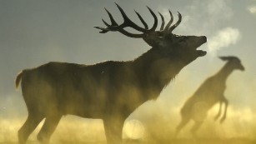
<path id="1" fill-rule="evenodd" d="M 220 119 L 222 123 L 227 116 L 228 100 L 224 97 L 224 91 L 226 89 L 226 81 L 228 76 L 234 70 L 244 71 L 244 67 L 238 57 L 219 57 L 227 63 L 212 77 L 208 77 L 203 84 L 194 92 L 192 97 L 183 105 L 180 114 L 181 122 L 176 127 L 175 137 L 177 137 L 178 132 L 190 121 L 193 120 L 195 124 L 193 125 L 191 132 L 195 136 L 198 128 L 202 125 L 203 120 L 207 117 L 208 110 L 213 107 L 214 104 L 219 102 L 219 110 L 215 121 L 221 115 L 221 107 L 224 103 L 224 113 L 223 117 Z"/>

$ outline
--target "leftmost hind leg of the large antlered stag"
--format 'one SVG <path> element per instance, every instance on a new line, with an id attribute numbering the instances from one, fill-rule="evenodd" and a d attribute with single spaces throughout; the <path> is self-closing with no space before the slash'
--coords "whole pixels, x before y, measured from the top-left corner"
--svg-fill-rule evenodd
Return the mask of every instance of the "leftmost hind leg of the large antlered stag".
<path id="1" fill-rule="evenodd" d="M 28 118 L 18 130 L 18 142 L 19 144 L 25 144 L 29 135 L 38 127 L 38 124 L 43 120 L 43 116 L 39 114 L 32 114 L 28 112 Z"/>

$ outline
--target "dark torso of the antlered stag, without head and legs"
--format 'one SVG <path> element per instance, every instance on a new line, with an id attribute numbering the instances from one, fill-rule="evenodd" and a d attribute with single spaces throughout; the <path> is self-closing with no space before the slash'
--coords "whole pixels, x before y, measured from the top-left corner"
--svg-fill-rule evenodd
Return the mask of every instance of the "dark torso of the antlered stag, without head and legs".
<path id="1" fill-rule="evenodd" d="M 147 67 L 153 68 L 150 65 L 149 62 Z M 172 67 L 174 68 L 175 65 Z M 163 87 L 178 72 L 158 77 L 163 74 L 150 68 L 143 69 L 143 66 L 139 66 L 136 61 L 108 61 L 91 66 L 48 62 L 40 67 L 24 70 L 18 77 L 22 77 L 23 80 L 24 97 L 32 97 L 27 96 L 25 92 L 31 91 L 34 87 L 38 89 L 34 95 L 43 94 L 42 97 L 35 96 L 38 100 L 33 101 L 32 104 L 35 105 L 33 109 L 38 107 L 38 110 L 46 113 L 45 115 L 54 112 L 55 109 L 62 115 L 103 118 L 104 115 L 108 115 L 106 112 L 108 107 L 120 105 L 118 110 L 121 112 L 118 114 L 128 117 L 143 102 L 156 99 Z M 20 80 L 17 79 L 17 87 Z M 29 107 L 30 103 L 27 104 Z M 53 106 L 45 110 L 45 106 L 49 104 Z M 126 112 L 128 114 L 125 114 Z"/>

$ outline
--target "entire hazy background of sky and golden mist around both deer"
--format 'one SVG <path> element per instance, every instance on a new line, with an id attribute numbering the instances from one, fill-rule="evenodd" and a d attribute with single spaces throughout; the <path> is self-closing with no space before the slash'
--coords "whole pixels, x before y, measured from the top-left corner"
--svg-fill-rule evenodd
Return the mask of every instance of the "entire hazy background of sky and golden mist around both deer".
<path id="1" fill-rule="evenodd" d="M 208 54 L 183 68 L 156 102 L 138 107 L 126 121 L 124 138 L 172 136 L 183 103 L 204 79 L 223 67 L 224 62 L 218 56 L 233 55 L 241 59 L 245 71 L 233 72 L 228 77 L 227 120 L 223 124 L 214 122 L 218 109 L 213 107 L 198 136 L 255 139 L 256 0 L 3 0 L 0 1 L 0 143 L 17 142 L 18 128 L 28 115 L 21 91 L 14 87 L 15 77 L 24 68 L 50 61 L 81 64 L 128 61 L 148 51 L 150 47 L 142 39 L 125 37 L 119 32 L 101 34 L 93 28 L 103 26 L 102 18 L 109 22 L 104 7 L 119 23 L 123 22 L 114 2 L 141 24 L 133 11 L 136 9 L 149 27 L 153 17 L 145 6 L 156 13 L 162 12 L 167 21 L 168 9 L 173 12 L 174 21 L 180 12 L 183 21 L 173 33 L 208 37 L 207 44 L 201 47 Z M 191 137 L 189 127 L 179 137 Z M 53 141 L 104 142 L 103 131 L 101 120 L 66 116 L 53 134 Z M 38 129 L 31 140 L 36 140 L 37 132 Z"/>

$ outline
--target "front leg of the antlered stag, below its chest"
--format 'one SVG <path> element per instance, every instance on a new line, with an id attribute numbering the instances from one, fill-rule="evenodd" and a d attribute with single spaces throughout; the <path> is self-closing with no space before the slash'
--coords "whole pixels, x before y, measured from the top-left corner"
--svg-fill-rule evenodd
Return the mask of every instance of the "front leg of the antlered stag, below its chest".
<path id="1" fill-rule="evenodd" d="M 108 144 L 121 144 L 124 120 L 103 120 Z"/>

